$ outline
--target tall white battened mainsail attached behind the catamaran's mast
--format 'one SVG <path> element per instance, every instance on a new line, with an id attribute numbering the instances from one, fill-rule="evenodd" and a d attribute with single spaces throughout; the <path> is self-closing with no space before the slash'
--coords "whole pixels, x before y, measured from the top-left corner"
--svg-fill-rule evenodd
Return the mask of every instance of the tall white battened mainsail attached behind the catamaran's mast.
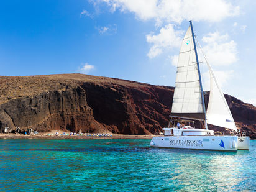
<path id="1" fill-rule="evenodd" d="M 181 44 L 170 116 L 205 120 L 192 30 L 190 25 Z"/>

